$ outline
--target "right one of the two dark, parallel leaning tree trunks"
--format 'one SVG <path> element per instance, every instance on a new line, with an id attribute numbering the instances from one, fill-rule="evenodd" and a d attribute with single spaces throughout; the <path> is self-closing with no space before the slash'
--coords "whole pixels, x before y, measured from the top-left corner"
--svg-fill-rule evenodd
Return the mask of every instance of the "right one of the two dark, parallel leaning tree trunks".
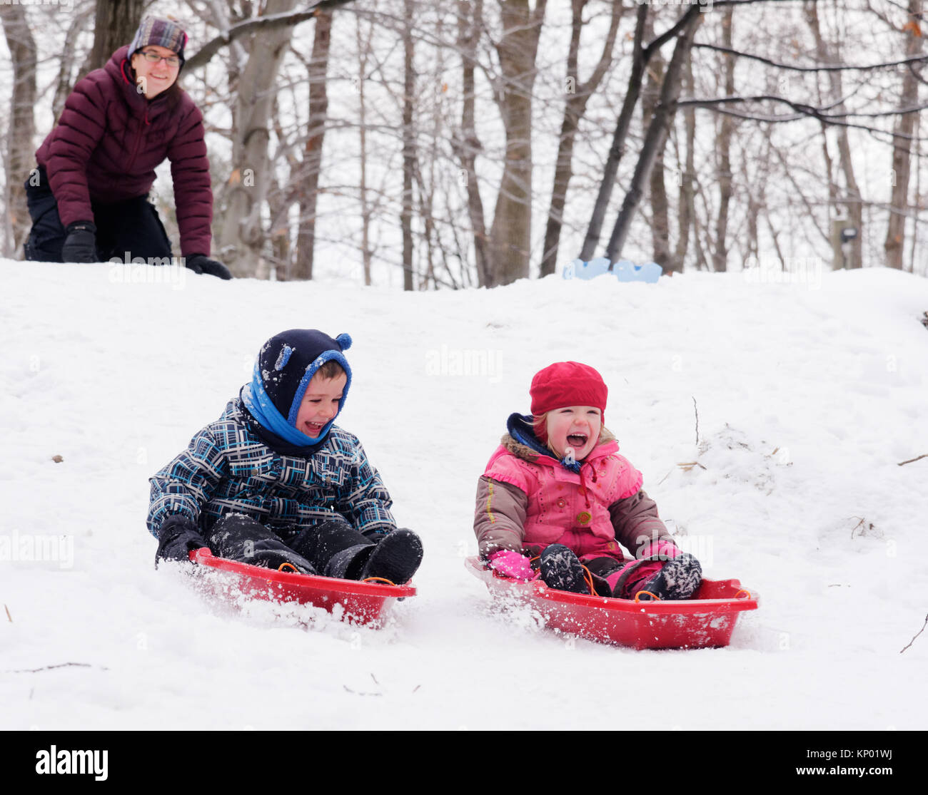
<path id="1" fill-rule="evenodd" d="M 693 34 L 702 20 L 698 7 L 696 12 L 687 13 L 690 14 L 690 17 L 677 35 L 674 55 L 670 58 L 670 65 L 664 75 L 664 83 L 661 86 L 661 101 L 651 118 L 651 124 L 648 126 L 648 132 L 645 134 L 644 143 L 641 145 L 641 152 L 638 155 L 638 163 L 635 165 L 632 182 L 625 194 L 625 200 L 622 202 L 622 209 L 619 210 L 615 226 L 612 228 L 609 246 L 606 247 L 606 256 L 612 262 L 622 255 L 622 247 L 625 245 L 625 238 L 628 236 L 631 222 L 638 210 L 638 204 L 644 192 L 644 185 L 651 176 L 651 169 L 654 166 L 658 152 L 664 148 L 667 129 L 677 112 L 677 99 L 680 95 L 683 64 L 690 57 L 690 44 L 692 44 Z"/>

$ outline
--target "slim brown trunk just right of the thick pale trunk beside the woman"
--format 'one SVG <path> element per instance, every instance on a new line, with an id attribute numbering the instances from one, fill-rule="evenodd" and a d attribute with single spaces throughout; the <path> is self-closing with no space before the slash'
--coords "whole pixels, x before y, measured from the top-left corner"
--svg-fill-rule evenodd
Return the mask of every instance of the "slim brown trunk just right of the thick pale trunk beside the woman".
<path id="1" fill-rule="evenodd" d="M 306 79 L 309 81 L 309 122 L 303 145 L 303 167 L 299 173 L 298 202 L 300 225 L 297 231 L 296 263 L 292 278 L 313 278 L 313 257 L 316 251 L 316 203 L 319 196 L 319 172 L 322 170 L 322 144 L 326 135 L 329 94 L 326 74 L 329 70 L 329 41 L 332 32 L 331 10 L 316 15 L 313 54 L 310 56 Z"/>

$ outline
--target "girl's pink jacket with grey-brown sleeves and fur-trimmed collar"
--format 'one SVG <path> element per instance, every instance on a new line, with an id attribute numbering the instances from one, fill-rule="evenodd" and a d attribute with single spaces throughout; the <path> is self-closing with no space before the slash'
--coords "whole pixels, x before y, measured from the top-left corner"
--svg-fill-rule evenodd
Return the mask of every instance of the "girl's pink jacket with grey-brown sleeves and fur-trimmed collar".
<path id="1" fill-rule="evenodd" d="M 642 536 L 669 537 L 657 506 L 641 491 L 641 473 L 618 450 L 604 432 L 574 473 L 504 436 L 477 489 L 474 532 L 481 553 L 560 543 L 580 556 L 621 561 L 619 544 L 634 553 Z"/>

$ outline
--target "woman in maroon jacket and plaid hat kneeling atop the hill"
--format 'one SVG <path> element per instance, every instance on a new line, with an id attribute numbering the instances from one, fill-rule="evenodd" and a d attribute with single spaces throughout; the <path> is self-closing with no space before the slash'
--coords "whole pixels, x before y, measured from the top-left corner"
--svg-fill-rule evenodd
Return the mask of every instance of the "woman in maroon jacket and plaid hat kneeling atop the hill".
<path id="1" fill-rule="evenodd" d="M 209 259 L 213 191 L 203 114 L 177 84 L 185 44 L 176 22 L 143 19 L 132 44 L 74 86 L 26 182 L 26 259 L 168 263 L 171 243 L 148 202 L 155 168 L 168 158 L 187 268 L 232 278 Z"/>

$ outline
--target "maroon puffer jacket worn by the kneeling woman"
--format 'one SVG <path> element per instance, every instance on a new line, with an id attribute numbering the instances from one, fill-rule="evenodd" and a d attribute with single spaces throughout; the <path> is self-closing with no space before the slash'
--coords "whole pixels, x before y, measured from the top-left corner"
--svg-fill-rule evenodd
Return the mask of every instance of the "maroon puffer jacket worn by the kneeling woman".
<path id="1" fill-rule="evenodd" d="M 93 221 L 90 200 L 145 196 L 155 168 L 171 160 L 181 254 L 210 255 L 213 190 L 203 142 L 203 114 L 179 89 L 152 100 L 139 94 L 121 47 L 103 69 L 74 86 L 58 120 L 35 153 L 45 167 L 58 216 L 67 226 Z"/>

